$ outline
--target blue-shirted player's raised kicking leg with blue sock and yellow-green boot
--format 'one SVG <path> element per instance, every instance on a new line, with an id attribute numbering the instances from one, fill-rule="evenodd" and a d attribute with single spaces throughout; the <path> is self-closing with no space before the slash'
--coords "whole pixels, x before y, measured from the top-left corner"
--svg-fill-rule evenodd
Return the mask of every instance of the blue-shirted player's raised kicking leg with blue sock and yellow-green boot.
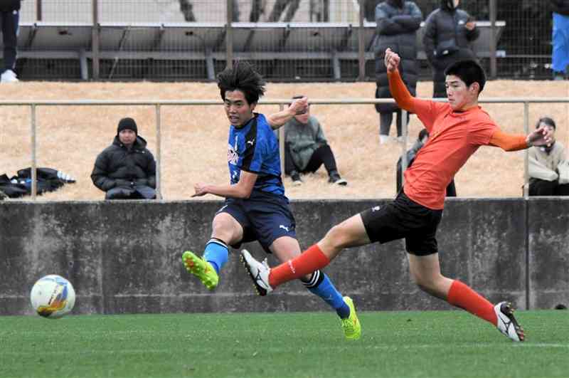
<path id="1" fill-rule="evenodd" d="M 218 213 L 213 218 L 211 239 L 206 244 L 203 256 L 199 257 L 191 251 L 182 255 L 186 271 L 195 275 L 209 290 L 215 289 L 221 268 L 228 261 L 228 243 L 235 243 L 242 237 L 243 228 L 239 222 L 230 214 Z"/>

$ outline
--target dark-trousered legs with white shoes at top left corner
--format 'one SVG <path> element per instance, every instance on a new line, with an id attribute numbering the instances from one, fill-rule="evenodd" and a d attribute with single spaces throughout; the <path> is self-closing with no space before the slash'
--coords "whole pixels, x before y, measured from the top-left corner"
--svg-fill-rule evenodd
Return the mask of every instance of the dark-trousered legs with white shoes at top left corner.
<path id="1" fill-rule="evenodd" d="M 18 48 L 18 25 L 20 22 L 20 0 L 0 1 L 0 26 L 4 43 L 4 70 L 0 83 L 16 83 L 16 54 Z"/>

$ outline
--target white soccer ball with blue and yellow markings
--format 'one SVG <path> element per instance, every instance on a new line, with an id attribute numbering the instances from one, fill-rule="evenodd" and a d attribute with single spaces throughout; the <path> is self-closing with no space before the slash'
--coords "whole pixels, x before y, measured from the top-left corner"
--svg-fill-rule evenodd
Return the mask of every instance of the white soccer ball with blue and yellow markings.
<path id="1" fill-rule="evenodd" d="M 31 307 L 38 315 L 57 319 L 73 310 L 75 290 L 65 278 L 50 274 L 33 284 L 30 300 Z"/>

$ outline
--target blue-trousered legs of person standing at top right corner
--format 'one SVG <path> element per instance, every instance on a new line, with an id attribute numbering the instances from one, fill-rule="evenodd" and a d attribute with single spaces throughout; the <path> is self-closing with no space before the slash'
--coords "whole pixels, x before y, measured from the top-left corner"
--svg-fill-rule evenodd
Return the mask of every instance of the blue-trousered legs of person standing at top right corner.
<path id="1" fill-rule="evenodd" d="M 551 68 L 553 78 L 563 80 L 569 76 L 569 0 L 550 0 L 553 10 L 553 53 Z"/>

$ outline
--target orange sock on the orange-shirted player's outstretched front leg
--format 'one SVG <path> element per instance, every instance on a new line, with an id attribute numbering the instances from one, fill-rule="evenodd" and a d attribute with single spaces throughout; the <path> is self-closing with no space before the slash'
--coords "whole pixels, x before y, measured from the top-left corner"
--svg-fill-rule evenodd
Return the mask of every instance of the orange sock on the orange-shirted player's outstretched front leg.
<path id="1" fill-rule="evenodd" d="M 322 253 L 317 244 L 314 244 L 314 246 L 301 253 L 300 256 L 272 268 L 269 274 L 269 285 L 272 288 L 276 288 L 282 283 L 296 280 L 303 275 L 324 268 L 329 263 L 328 257 Z"/>

